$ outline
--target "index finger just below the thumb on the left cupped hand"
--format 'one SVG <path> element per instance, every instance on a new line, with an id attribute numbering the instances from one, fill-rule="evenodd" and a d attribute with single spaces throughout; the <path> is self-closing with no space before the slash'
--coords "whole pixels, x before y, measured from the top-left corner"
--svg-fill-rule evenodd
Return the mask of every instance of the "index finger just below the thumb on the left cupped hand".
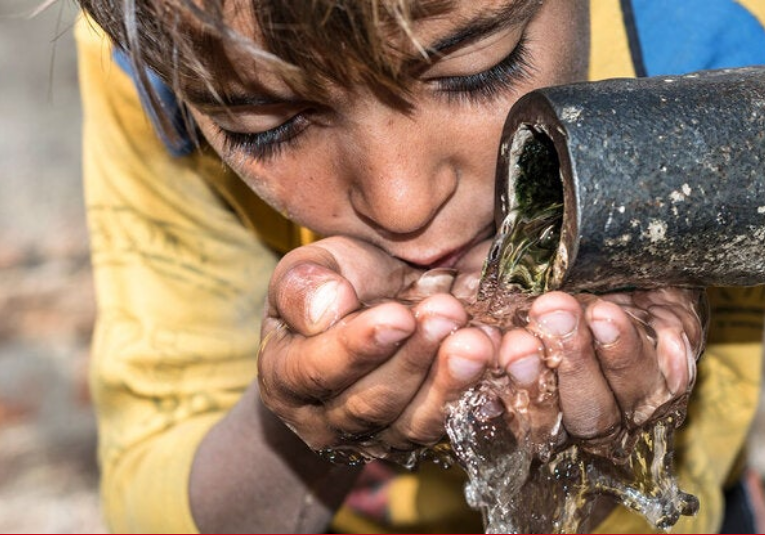
<path id="1" fill-rule="evenodd" d="M 262 390 L 296 405 L 329 399 L 388 360 L 415 329 L 412 312 L 389 302 L 312 337 L 272 331 L 258 358 Z"/>

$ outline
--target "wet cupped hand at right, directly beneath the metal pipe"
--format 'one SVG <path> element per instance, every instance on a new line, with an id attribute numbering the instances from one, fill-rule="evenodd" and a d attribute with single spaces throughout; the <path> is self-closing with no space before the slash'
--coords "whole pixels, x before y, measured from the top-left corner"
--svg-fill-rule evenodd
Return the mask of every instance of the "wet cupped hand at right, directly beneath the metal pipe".
<path id="1" fill-rule="evenodd" d="M 503 335 L 499 361 L 529 391 L 540 436 L 608 451 L 625 433 L 658 419 L 690 392 L 703 345 L 701 290 L 660 289 L 599 297 L 551 292 L 529 309 L 529 323 Z M 538 392 L 557 369 L 558 403 Z"/>

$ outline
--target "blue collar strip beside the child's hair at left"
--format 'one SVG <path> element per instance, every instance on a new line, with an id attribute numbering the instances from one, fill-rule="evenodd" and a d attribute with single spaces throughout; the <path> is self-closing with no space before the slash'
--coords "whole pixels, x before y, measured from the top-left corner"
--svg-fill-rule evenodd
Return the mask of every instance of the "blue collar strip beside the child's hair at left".
<path id="1" fill-rule="evenodd" d="M 133 79 L 133 82 L 136 82 L 137 80 L 135 71 L 133 70 L 133 66 L 130 64 L 130 58 L 128 58 L 127 54 L 124 51 L 115 48 L 113 55 L 115 63 L 117 63 L 117 65 L 119 65 L 120 68 Z M 144 110 L 146 110 L 146 112 L 149 114 L 151 122 L 154 125 L 154 129 L 162 138 L 162 141 L 164 142 L 170 154 L 176 157 L 191 154 L 196 149 L 196 144 L 186 129 L 186 121 L 183 118 L 181 107 L 178 105 L 178 99 L 176 98 L 173 91 L 159 78 L 159 76 L 157 76 L 154 71 L 147 69 L 146 74 L 149 78 L 149 83 L 151 84 L 151 87 L 154 90 L 154 93 L 157 95 L 160 105 L 162 106 L 161 110 L 154 109 L 151 106 L 151 102 L 149 101 L 148 96 L 139 91 L 141 103 L 143 104 Z M 136 87 L 138 87 L 138 84 L 136 84 Z M 159 127 L 161 123 L 157 117 L 157 113 L 166 113 L 167 116 L 171 118 L 173 127 L 175 128 L 178 137 L 177 143 L 173 143 L 172 140 L 170 140 L 163 133 L 162 129 Z"/>

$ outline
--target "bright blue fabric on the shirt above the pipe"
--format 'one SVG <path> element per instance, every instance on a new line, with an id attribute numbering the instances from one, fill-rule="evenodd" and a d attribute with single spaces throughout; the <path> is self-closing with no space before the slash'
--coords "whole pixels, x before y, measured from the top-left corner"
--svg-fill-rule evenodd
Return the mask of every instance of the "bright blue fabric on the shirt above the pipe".
<path id="1" fill-rule="evenodd" d="M 765 28 L 734 0 L 632 0 L 632 9 L 648 76 L 765 65 Z"/>

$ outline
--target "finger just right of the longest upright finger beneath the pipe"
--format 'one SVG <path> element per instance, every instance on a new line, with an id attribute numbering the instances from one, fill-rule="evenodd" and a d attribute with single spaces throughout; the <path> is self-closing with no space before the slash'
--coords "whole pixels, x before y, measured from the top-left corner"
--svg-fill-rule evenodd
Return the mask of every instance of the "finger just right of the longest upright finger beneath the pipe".
<path id="1" fill-rule="evenodd" d="M 642 425 L 671 397 L 653 339 L 614 303 L 596 301 L 586 317 L 603 375 L 625 419 Z"/>

